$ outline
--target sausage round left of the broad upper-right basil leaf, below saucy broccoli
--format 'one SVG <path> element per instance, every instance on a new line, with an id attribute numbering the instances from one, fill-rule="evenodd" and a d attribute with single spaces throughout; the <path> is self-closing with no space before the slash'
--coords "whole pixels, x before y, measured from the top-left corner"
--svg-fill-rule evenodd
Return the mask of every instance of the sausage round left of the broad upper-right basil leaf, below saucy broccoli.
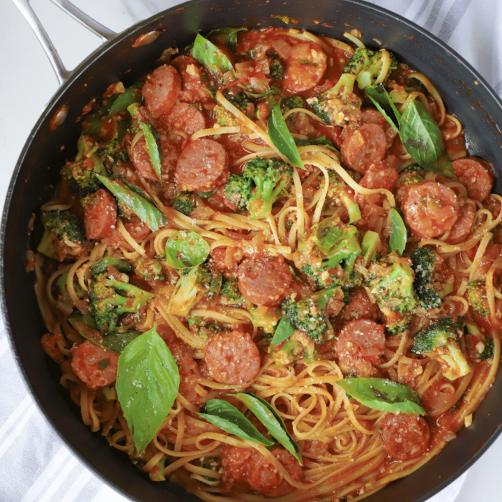
<path id="1" fill-rule="evenodd" d="M 347 167 L 365 173 L 373 162 L 385 157 L 386 133 L 382 126 L 369 122 L 346 130 L 341 152 Z"/>

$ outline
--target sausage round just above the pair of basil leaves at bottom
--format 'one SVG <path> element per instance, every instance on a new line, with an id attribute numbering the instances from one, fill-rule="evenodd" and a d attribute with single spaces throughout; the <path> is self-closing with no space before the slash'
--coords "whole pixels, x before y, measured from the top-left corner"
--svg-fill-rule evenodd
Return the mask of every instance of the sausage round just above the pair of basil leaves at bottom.
<path id="1" fill-rule="evenodd" d="M 257 344 L 238 330 L 211 337 L 204 359 L 211 377 L 220 383 L 249 383 L 258 376 L 261 365 Z"/>

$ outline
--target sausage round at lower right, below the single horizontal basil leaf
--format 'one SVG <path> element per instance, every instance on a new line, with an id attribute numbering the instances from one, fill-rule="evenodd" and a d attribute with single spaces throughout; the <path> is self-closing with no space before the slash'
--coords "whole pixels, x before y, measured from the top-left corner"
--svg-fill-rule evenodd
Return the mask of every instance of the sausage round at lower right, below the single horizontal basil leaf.
<path id="1" fill-rule="evenodd" d="M 390 413 L 381 423 L 381 444 L 395 459 L 407 460 L 422 455 L 429 446 L 429 439 L 429 425 L 418 415 Z"/>

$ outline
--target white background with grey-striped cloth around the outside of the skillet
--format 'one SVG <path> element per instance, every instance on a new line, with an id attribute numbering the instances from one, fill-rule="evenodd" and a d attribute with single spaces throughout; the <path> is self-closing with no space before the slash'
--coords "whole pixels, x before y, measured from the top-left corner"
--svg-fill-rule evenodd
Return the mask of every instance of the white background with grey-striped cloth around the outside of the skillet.
<path id="1" fill-rule="evenodd" d="M 329 1 L 329 0 L 326 0 Z M 180 3 L 168 0 L 74 0 L 84 12 L 120 32 Z M 373 0 L 439 36 L 502 96 L 502 0 Z M 32 0 L 61 58 L 73 68 L 98 46 L 49 0 Z M 17 157 L 43 107 L 57 89 L 50 63 L 10 0 L 0 0 L 0 207 Z M 38 347 L 34 347 L 38 350 Z M 470 502 L 482 493 L 501 500 L 502 439 L 429 502 Z M 0 321 L 0 502 L 120 502 L 81 464 L 38 411 Z"/>

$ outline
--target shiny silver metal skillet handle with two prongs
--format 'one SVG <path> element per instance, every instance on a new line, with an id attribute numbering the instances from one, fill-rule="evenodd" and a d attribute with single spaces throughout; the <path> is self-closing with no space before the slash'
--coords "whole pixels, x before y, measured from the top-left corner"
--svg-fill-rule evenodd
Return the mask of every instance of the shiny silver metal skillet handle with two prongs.
<path id="1" fill-rule="evenodd" d="M 98 23 L 93 20 L 92 17 L 86 15 L 86 13 L 82 12 L 79 8 L 75 7 L 73 3 L 70 3 L 68 0 L 51 0 L 56 6 L 61 8 L 66 14 L 70 17 L 73 17 L 74 20 L 78 21 L 82 26 L 86 29 L 99 36 L 102 39 L 102 42 L 105 43 L 109 40 L 113 40 L 117 33 L 112 30 L 107 29 L 106 26 Z M 70 70 L 67 70 L 59 57 L 59 54 L 54 47 L 54 44 L 50 40 L 49 36 L 47 36 L 47 32 L 44 27 L 40 23 L 37 15 L 31 8 L 29 4 L 29 0 L 13 0 L 15 6 L 20 10 L 24 19 L 29 23 L 31 29 L 35 33 L 38 41 L 43 47 L 45 54 L 49 58 L 50 63 L 52 64 L 52 68 L 54 69 L 54 73 L 56 73 L 56 77 L 59 80 L 59 84 L 63 84 L 68 77 L 73 73 Z"/>

